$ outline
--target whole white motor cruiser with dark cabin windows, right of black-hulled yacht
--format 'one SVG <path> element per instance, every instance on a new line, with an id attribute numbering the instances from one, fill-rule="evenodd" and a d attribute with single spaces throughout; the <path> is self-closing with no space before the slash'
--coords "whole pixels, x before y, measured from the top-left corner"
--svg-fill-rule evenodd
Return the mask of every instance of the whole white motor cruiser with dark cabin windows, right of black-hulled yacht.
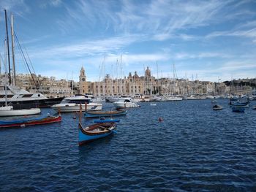
<path id="1" fill-rule="evenodd" d="M 82 106 L 82 111 L 102 110 L 102 104 L 91 102 L 91 97 L 86 95 L 65 97 L 60 104 L 54 104 L 52 108 L 59 112 L 79 112 L 80 104 Z"/>

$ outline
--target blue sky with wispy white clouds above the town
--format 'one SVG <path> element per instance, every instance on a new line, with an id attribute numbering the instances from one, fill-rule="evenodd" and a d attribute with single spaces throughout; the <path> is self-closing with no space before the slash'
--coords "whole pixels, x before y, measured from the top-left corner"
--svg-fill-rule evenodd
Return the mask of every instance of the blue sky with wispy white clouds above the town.
<path id="1" fill-rule="evenodd" d="M 43 76 L 78 81 L 83 66 L 87 80 L 98 81 L 143 76 L 148 66 L 159 78 L 256 77 L 255 0 L 0 0 L 2 60 L 4 9 Z M 15 64 L 16 73 L 28 72 L 17 41 Z"/>

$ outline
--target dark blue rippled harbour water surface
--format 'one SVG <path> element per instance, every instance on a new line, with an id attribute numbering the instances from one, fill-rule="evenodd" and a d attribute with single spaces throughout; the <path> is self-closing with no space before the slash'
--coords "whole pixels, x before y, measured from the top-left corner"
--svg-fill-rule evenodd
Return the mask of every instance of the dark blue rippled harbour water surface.
<path id="1" fill-rule="evenodd" d="M 75 113 L 1 129 L 0 191 L 256 191 L 256 110 L 218 102 L 142 103 L 117 134 L 82 147 Z"/>

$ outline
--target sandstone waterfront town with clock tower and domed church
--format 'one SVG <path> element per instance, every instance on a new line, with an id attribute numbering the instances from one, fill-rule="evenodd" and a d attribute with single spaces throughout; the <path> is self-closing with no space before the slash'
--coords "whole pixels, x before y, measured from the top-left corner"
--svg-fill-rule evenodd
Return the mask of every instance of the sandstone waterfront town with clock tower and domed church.
<path id="1" fill-rule="evenodd" d="M 74 80 L 56 80 L 56 77 L 44 77 L 35 74 L 16 74 L 15 85 L 31 93 L 43 93 L 48 98 L 89 94 L 91 96 L 223 96 L 255 94 L 256 78 L 210 82 L 188 80 L 151 75 L 147 67 L 143 75 L 130 72 L 124 78 L 112 78 L 106 74 L 102 81 L 87 81 L 88 72 L 81 67 L 79 82 Z M 1 74 L 1 85 L 4 85 L 4 74 Z"/>

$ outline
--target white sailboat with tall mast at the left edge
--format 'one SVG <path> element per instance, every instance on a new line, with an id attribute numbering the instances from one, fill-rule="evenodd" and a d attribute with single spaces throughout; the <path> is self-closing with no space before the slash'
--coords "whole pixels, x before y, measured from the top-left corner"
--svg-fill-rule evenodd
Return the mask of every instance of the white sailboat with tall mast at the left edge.
<path id="1" fill-rule="evenodd" d="M 5 17 L 6 17 L 6 22 L 7 22 L 7 13 L 6 10 L 5 11 Z M 6 24 L 7 26 L 7 24 Z M 13 30 L 13 27 L 12 27 Z M 13 31 L 12 31 L 13 32 Z M 9 39 L 8 39 L 8 30 L 7 30 L 7 39 L 6 41 L 4 41 L 4 47 L 5 47 L 5 55 L 7 55 L 7 51 L 8 51 L 8 61 L 9 61 L 9 66 L 10 66 L 10 54 L 9 54 L 9 43 L 8 43 Z M 13 47 L 13 41 L 12 41 L 12 47 Z M 13 49 L 13 48 L 12 48 Z M 7 50 L 7 51 L 6 51 Z M 12 51 L 13 53 L 13 51 Z M 6 116 L 20 116 L 20 115 L 36 115 L 41 113 L 41 110 L 39 108 L 31 108 L 31 109 L 26 109 L 26 110 L 13 110 L 12 106 L 8 106 L 7 105 L 7 59 L 5 57 L 5 61 L 4 61 L 4 68 L 5 68 L 5 73 L 4 73 L 4 91 L 5 91 L 5 96 L 4 96 L 4 100 L 5 100 L 5 106 L 4 107 L 0 107 L 0 117 L 6 117 Z"/>

